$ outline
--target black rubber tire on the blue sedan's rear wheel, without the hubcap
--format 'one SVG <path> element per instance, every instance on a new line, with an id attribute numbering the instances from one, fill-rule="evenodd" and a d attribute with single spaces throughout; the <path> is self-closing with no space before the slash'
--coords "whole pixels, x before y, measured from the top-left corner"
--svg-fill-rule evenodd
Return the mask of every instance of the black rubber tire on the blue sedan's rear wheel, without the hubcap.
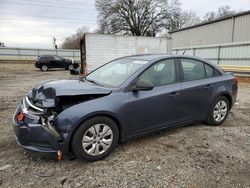
<path id="1" fill-rule="evenodd" d="M 215 117 L 214 117 L 214 110 L 215 110 L 216 104 L 217 104 L 219 101 L 224 101 L 224 102 L 226 103 L 226 108 L 227 108 L 227 110 L 226 110 L 226 114 L 225 114 L 224 118 L 223 118 L 221 121 L 216 121 L 216 119 L 215 119 Z M 229 110 L 230 110 L 230 106 L 229 106 L 228 99 L 227 99 L 226 97 L 224 97 L 224 96 L 219 96 L 219 97 L 217 97 L 217 98 L 213 101 L 212 105 L 210 106 L 209 114 L 208 114 L 208 118 L 207 118 L 207 121 L 206 121 L 206 122 L 207 122 L 209 125 L 212 125 L 212 126 L 219 126 L 219 125 L 221 125 L 221 124 L 226 120 L 226 118 L 227 118 L 227 116 L 228 116 Z"/>

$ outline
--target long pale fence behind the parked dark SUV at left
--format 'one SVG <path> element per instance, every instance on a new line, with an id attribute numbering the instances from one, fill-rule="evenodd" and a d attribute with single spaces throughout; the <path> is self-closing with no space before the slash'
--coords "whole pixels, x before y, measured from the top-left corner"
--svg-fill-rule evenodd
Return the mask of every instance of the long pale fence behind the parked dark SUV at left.
<path id="1" fill-rule="evenodd" d="M 80 61 L 80 50 L 70 49 L 33 49 L 33 48 L 0 48 L 0 61 L 34 61 L 40 55 L 58 55 Z"/>

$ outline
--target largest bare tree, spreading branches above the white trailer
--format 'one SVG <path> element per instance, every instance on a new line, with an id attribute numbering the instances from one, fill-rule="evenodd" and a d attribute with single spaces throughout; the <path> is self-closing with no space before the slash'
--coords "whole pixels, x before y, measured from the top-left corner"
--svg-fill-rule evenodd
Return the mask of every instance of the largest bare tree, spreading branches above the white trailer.
<path id="1" fill-rule="evenodd" d="M 96 0 L 99 11 L 99 32 L 155 36 L 168 27 L 178 0 Z"/>

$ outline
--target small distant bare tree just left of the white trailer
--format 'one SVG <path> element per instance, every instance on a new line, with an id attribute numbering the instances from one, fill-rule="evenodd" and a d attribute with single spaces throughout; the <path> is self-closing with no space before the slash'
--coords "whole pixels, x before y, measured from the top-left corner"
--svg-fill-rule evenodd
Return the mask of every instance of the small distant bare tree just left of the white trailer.
<path id="1" fill-rule="evenodd" d="M 62 48 L 65 49 L 80 49 L 80 40 L 85 33 L 89 32 L 89 28 L 83 26 L 76 30 L 76 33 L 65 38 L 62 44 Z"/>

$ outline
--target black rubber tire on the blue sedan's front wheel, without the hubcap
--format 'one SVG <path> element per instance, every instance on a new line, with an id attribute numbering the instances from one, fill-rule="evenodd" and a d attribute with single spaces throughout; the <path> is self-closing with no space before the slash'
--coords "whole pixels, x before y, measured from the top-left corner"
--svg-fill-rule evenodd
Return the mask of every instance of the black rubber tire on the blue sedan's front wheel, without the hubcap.
<path id="1" fill-rule="evenodd" d="M 83 148 L 82 140 L 85 134 L 87 134 L 88 130 L 96 124 L 107 125 L 112 130 L 113 140 L 109 148 L 104 153 L 101 153 L 99 155 L 90 155 Z M 76 155 L 77 158 L 87 160 L 87 161 L 97 161 L 97 160 L 101 160 L 107 157 L 115 149 L 118 143 L 118 138 L 119 138 L 119 130 L 118 130 L 117 124 L 112 119 L 106 116 L 96 116 L 96 117 L 86 120 L 79 126 L 79 128 L 77 128 L 72 138 L 71 147 L 72 147 L 73 153 Z"/>

